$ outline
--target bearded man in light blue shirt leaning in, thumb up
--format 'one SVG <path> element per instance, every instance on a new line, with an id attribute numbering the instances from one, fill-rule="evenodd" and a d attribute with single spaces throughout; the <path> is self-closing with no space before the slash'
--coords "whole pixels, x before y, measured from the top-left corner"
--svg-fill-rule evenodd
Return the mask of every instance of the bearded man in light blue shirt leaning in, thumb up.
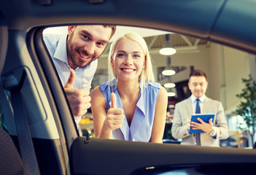
<path id="1" fill-rule="evenodd" d="M 44 34 L 44 43 L 61 79 L 78 125 L 90 108 L 90 85 L 98 60 L 116 26 L 69 26 L 68 35 Z"/>

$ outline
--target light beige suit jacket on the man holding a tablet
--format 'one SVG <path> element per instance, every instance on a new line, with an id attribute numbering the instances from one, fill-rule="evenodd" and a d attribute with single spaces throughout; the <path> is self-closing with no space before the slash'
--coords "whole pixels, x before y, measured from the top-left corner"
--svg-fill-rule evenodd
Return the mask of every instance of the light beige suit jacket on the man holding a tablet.
<path id="1" fill-rule="evenodd" d="M 201 133 L 201 146 L 220 147 L 220 139 L 228 139 L 228 124 L 225 120 L 224 109 L 220 101 L 215 101 L 206 97 L 203 101 L 203 111 L 201 113 L 214 113 L 214 130 L 217 135 L 210 136 L 209 133 Z M 187 131 L 187 120 L 190 120 L 193 114 L 193 107 L 190 98 L 185 99 L 175 105 L 174 120 L 171 128 L 171 134 L 175 139 L 182 138 L 181 144 L 195 144 L 195 134 Z"/>

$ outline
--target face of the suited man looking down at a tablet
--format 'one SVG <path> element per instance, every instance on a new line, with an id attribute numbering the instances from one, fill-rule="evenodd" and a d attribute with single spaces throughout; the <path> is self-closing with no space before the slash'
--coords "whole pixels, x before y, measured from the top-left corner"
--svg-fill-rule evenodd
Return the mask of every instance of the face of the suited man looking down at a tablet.
<path id="1" fill-rule="evenodd" d="M 208 87 L 208 82 L 203 76 L 193 76 L 190 77 L 188 82 L 188 88 L 190 88 L 191 93 L 196 97 L 200 98 L 206 93 Z"/>

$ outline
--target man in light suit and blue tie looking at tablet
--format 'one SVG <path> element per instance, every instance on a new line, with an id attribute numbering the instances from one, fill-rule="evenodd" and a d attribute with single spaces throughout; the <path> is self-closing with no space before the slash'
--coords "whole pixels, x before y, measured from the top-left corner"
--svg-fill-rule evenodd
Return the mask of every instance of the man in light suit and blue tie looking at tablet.
<path id="1" fill-rule="evenodd" d="M 220 101 L 205 96 L 208 82 L 206 74 L 201 70 L 191 72 L 188 88 L 192 95 L 175 105 L 174 120 L 171 128 L 175 139 L 182 138 L 181 144 L 220 147 L 220 139 L 228 139 L 228 125 L 225 120 L 224 109 Z M 198 100 L 197 100 L 198 99 Z M 197 107 L 196 104 L 199 106 Z M 190 117 L 200 109 L 202 114 L 214 113 L 214 120 L 209 123 L 197 118 L 200 123 L 191 122 L 193 129 L 201 129 L 203 133 L 189 133 Z M 198 112 L 196 112 L 198 113 Z"/>

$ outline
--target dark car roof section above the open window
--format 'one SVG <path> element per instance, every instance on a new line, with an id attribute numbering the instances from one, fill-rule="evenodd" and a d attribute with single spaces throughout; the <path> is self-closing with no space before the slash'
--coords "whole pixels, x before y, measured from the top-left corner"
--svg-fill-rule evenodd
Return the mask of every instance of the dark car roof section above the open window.
<path id="1" fill-rule="evenodd" d="M 196 36 L 256 53 L 256 1 L 109 0 L 102 3 L 73 1 L 72 7 L 61 0 L 10 0 L 1 1 L 0 10 L 9 29 L 28 31 L 36 26 L 70 23 L 143 26 Z M 58 10 L 55 10 L 56 6 Z"/>

